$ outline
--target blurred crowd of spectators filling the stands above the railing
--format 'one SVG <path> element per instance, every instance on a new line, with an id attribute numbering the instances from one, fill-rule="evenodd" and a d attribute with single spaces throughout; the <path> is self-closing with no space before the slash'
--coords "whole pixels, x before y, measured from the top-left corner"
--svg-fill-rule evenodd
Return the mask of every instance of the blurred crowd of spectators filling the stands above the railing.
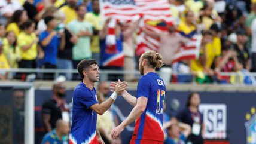
<path id="1" fill-rule="evenodd" d="M 172 82 L 255 84 L 248 72 L 256 72 L 256 1 L 169 0 L 173 23 L 161 23 L 168 33 L 144 32 L 159 38 L 159 52 L 166 67 L 172 67 Z M 101 69 L 133 71 L 138 22 L 118 23 L 116 49 L 107 48 L 111 20 L 103 20 L 99 1 L 81 0 L 2 0 L 0 2 L 0 68 L 76 69 L 83 59 L 95 59 Z M 170 53 L 194 35 L 202 34 L 198 59 L 173 63 Z M 124 54 L 124 62 L 108 63 L 113 55 Z M 108 63 L 108 64 L 106 64 Z M 0 79 L 25 80 L 29 73 L 2 72 Z M 247 76 L 243 76 L 243 75 Z M 64 73 L 68 80 L 76 79 Z M 53 79 L 46 73 L 44 79 Z M 109 78 L 111 80 L 111 78 Z M 120 79 L 132 81 L 133 74 Z"/>

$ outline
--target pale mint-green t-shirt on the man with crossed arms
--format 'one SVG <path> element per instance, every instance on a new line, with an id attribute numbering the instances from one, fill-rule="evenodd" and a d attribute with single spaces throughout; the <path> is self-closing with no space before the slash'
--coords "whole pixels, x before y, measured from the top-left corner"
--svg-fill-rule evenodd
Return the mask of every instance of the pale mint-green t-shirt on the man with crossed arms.
<path id="1" fill-rule="evenodd" d="M 83 21 L 79 22 L 78 20 L 72 20 L 67 25 L 68 29 L 74 35 L 77 35 L 81 30 L 89 30 L 90 33 L 93 33 L 92 24 Z M 77 44 L 72 48 L 72 59 L 73 60 L 82 60 L 89 59 L 92 57 L 92 51 L 90 49 L 91 38 L 89 36 L 78 38 Z"/>

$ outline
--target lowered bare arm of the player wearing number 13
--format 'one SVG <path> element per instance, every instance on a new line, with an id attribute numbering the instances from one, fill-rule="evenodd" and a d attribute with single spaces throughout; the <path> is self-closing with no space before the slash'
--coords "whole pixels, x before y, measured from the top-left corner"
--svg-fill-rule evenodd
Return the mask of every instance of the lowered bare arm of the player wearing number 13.
<path id="1" fill-rule="evenodd" d="M 134 122 L 146 109 L 148 103 L 148 98 L 141 96 L 138 98 L 138 102 L 136 106 L 132 109 L 128 117 L 120 124 L 118 127 L 114 128 L 111 132 L 112 139 L 117 139 L 121 131 L 124 130 L 124 128 Z"/>

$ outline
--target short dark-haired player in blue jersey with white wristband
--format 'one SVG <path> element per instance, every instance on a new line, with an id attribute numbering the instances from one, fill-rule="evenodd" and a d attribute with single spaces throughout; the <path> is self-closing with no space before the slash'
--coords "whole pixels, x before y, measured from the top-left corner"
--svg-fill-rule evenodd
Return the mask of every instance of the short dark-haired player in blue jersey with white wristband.
<path id="1" fill-rule="evenodd" d="M 96 60 L 81 60 L 77 66 L 83 81 L 73 93 L 72 125 L 69 144 L 104 143 L 96 130 L 97 114 L 102 115 L 114 103 L 118 94 L 127 88 L 127 82 L 118 82 L 114 93 L 105 102 L 97 103 L 95 82 L 99 81 L 99 66 Z"/>

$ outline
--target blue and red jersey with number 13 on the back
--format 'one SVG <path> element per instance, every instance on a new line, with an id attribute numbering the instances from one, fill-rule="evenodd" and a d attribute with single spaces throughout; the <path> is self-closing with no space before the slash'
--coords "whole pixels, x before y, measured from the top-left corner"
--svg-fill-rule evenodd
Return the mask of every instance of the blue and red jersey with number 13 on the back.
<path id="1" fill-rule="evenodd" d="M 139 79 L 137 99 L 148 98 L 145 111 L 135 122 L 132 139 L 156 140 L 163 142 L 163 103 L 165 98 L 163 79 L 157 73 L 150 72 Z"/>

